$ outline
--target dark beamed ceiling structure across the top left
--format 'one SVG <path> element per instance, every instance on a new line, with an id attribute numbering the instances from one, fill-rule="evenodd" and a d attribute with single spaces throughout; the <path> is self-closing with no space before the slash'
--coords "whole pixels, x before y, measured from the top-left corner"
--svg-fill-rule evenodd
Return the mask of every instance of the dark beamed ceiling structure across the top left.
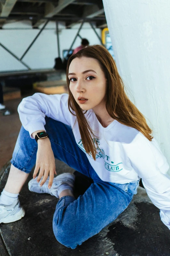
<path id="1" fill-rule="evenodd" d="M 33 28 L 46 20 L 65 21 L 67 28 L 84 21 L 107 26 L 102 0 L 0 0 L 0 28 L 22 19 L 31 20 Z"/>

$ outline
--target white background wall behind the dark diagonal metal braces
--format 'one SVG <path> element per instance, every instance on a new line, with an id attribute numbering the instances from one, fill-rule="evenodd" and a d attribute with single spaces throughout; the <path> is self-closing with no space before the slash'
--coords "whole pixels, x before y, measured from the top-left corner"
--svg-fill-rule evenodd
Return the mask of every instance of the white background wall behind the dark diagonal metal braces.
<path id="1" fill-rule="evenodd" d="M 41 27 L 42 26 L 43 24 Z M 79 26 L 78 24 L 73 26 L 72 29 L 65 29 L 64 23 L 59 23 L 61 58 L 63 57 L 63 50 L 70 48 Z M 0 43 L 13 52 L 18 58 L 21 58 L 24 51 L 39 32 L 39 29 L 31 29 L 31 22 L 29 21 L 8 23 L 4 25 L 3 28 L 4 29 L 0 30 Z M 99 36 L 101 36 L 101 30 L 97 28 L 96 31 Z M 90 44 L 100 44 L 99 39 L 88 23 L 84 23 L 79 34 L 82 38 L 87 38 Z M 73 48 L 76 48 L 80 44 L 81 39 L 78 37 Z M 58 57 L 56 23 L 49 22 L 27 52 L 23 61 L 31 69 L 45 69 L 54 66 L 54 59 L 56 57 Z M 0 46 L 0 72 L 26 69 L 25 66 Z"/>

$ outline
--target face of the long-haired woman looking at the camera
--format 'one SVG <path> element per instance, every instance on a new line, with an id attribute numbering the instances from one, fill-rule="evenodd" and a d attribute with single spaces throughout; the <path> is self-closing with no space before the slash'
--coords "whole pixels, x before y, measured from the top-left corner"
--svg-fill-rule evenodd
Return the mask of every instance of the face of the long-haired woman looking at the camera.
<path id="1" fill-rule="evenodd" d="M 93 58 L 75 58 L 69 66 L 70 91 L 83 110 L 105 104 L 106 78 Z"/>

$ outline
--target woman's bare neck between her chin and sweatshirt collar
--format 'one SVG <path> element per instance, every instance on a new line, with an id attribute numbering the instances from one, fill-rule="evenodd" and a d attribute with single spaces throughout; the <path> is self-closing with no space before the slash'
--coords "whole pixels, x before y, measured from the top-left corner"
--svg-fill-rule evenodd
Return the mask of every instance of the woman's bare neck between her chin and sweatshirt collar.
<path id="1" fill-rule="evenodd" d="M 106 103 L 100 104 L 92 110 L 94 111 L 98 121 L 104 128 L 106 128 L 109 124 L 111 124 L 114 121 L 114 119 L 111 118 L 111 116 L 108 114 L 106 110 Z"/>

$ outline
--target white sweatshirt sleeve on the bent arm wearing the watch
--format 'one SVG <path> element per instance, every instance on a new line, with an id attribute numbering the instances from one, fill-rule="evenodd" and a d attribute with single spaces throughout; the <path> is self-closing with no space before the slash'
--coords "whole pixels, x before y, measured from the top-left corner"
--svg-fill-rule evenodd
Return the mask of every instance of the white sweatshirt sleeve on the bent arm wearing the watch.
<path id="1" fill-rule="evenodd" d="M 45 130 L 45 116 L 70 124 L 71 113 L 68 110 L 68 94 L 47 95 L 35 93 L 22 99 L 18 106 L 21 123 L 31 135 L 34 131 Z"/>

